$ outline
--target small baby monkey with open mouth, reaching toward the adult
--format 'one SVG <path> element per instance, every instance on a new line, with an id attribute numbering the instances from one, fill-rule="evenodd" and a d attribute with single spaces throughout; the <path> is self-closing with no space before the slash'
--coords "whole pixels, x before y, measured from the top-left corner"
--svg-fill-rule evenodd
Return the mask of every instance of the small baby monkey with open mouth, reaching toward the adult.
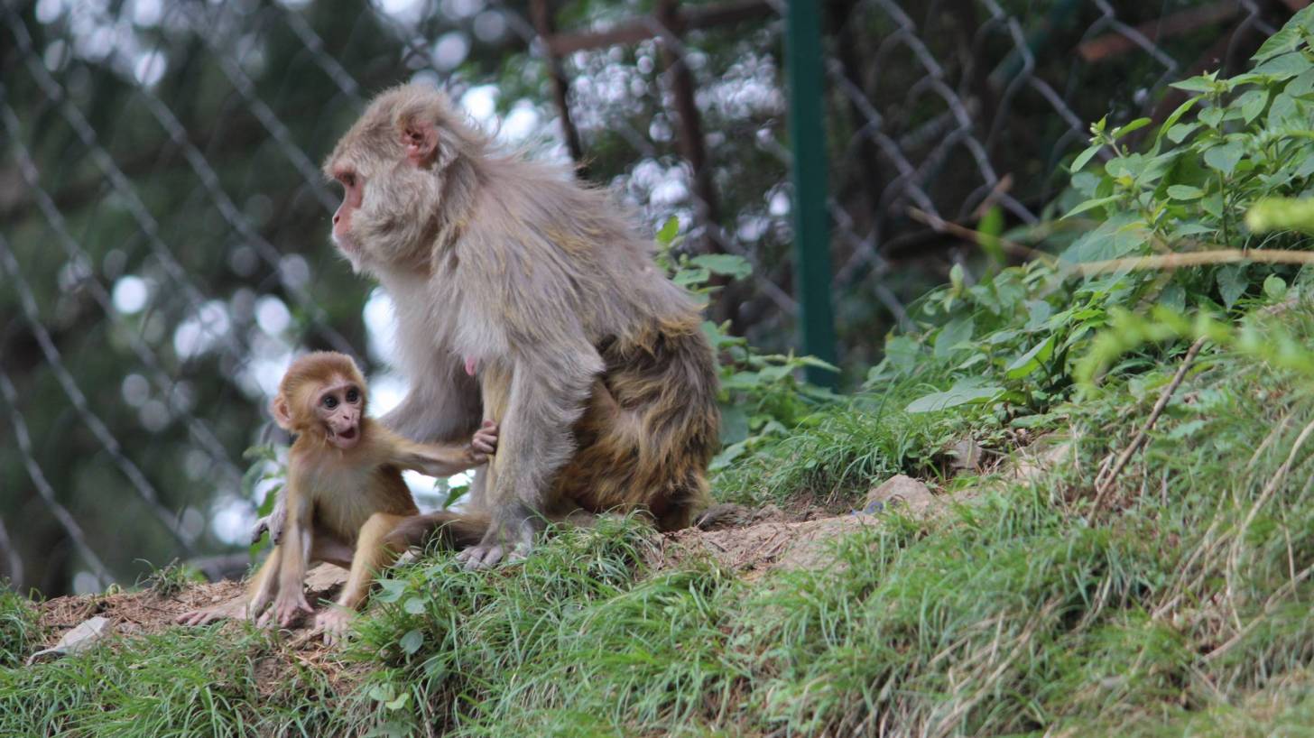
<path id="1" fill-rule="evenodd" d="M 246 616 L 261 625 L 277 619 L 286 628 L 298 613 L 313 612 L 302 583 L 307 566 L 322 561 L 351 570 L 336 607 L 315 617 L 332 642 L 368 595 L 373 574 L 406 542 L 435 532 L 453 545 L 478 541 L 482 528 L 464 531 L 468 523 L 455 513 L 419 516 L 402 470 L 448 477 L 478 466 L 497 449 L 497 425 L 485 420 L 466 445 L 417 444 L 367 418 L 365 402 L 365 380 L 350 356 L 315 352 L 292 364 L 269 407 L 297 437 L 288 453 L 283 536 L 244 599 L 188 612 L 177 622 Z M 403 534 L 393 534 L 407 520 Z"/>

